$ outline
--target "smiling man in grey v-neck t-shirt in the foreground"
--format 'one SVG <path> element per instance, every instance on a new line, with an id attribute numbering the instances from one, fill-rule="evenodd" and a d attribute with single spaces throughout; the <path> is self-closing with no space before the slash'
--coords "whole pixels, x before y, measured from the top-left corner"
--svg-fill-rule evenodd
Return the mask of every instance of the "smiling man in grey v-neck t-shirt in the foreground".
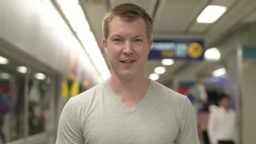
<path id="1" fill-rule="evenodd" d="M 199 144 L 187 97 L 144 74 L 152 23 L 134 4 L 108 11 L 102 29 L 111 77 L 67 102 L 56 144 Z"/>

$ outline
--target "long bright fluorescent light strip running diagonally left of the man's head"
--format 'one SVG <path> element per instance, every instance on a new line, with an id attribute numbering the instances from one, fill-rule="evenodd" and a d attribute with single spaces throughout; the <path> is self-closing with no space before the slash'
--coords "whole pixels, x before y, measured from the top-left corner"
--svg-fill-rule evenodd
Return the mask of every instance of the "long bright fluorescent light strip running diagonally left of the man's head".
<path id="1" fill-rule="evenodd" d="M 78 0 L 57 0 L 61 6 L 61 11 L 68 19 L 72 29 L 76 32 L 77 37 L 82 42 L 85 51 L 93 61 L 94 66 L 101 74 L 104 80 L 110 77 L 110 72 L 106 61 L 101 54 L 99 46 L 90 30 L 88 21 L 85 18 Z"/>

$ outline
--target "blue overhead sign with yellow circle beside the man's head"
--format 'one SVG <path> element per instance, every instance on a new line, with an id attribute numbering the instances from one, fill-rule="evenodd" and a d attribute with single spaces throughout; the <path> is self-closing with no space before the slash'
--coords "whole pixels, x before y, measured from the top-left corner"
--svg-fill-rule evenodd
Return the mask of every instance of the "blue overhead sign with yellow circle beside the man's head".
<path id="1" fill-rule="evenodd" d="M 203 40 L 154 40 L 148 59 L 203 60 Z"/>

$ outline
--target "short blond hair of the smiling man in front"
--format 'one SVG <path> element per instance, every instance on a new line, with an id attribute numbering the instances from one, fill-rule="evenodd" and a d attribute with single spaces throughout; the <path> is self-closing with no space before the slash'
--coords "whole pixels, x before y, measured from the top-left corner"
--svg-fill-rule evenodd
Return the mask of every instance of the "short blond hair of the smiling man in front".
<path id="1" fill-rule="evenodd" d="M 149 14 L 138 5 L 132 3 L 123 3 L 111 8 L 104 16 L 102 21 L 102 31 L 104 38 L 107 39 L 109 35 L 109 24 L 114 17 L 119 17 L 127 21 L 133 21 L 138 18 L 142 18 L 145 21 L 147 27 L 148 41 L 152 40 L 153 34 L 153 19 Z"/>

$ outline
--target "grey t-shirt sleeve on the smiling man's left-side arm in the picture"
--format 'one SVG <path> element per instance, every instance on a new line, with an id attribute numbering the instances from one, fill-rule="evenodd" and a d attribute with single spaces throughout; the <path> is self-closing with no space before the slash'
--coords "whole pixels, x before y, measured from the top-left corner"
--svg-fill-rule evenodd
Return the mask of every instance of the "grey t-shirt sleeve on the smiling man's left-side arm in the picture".
<path id="1" fill-rule="evenodd" d="M 61 112 L 56 144 L 84 144 L 73 100 L 74 98 L 69 99 Z"/>

